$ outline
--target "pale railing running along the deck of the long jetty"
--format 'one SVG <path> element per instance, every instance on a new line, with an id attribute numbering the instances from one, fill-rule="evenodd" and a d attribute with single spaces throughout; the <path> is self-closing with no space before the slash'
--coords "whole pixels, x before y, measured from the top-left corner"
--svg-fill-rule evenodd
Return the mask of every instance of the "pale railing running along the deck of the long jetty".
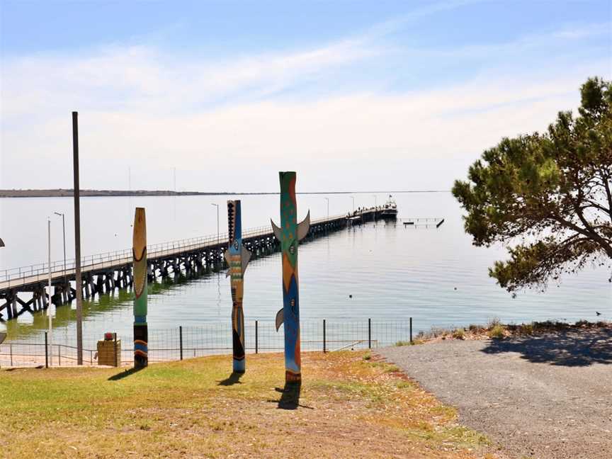
<path id="1" fill-rule="evenodd" d="M 317 225 L 328 221 L 338 220 L 344 218 L 346 215 L 334 215 L 329 218 L 319 218 L 311 221 L 311 225 Z M 272 234 L 272 228 L 270 225 L 254 227 L 246 229 L 242 233 L 242 239 L 249 239 L 252 237 L 261 237 L 266 234 Z M 203 249 L 207 246 L 214 247 L 222 244 L 227 244 L 228 234 L 222 232 L 220 234 L 212 234 L 203 237 L 191 237 L 187 239 L 178 239 L 170 242 L 162 242 L 159 244 L 149 244 L 147 246 L 147 256 L 149 259 L 156 259 L 160 256 L 168 256 L 172 254 L 179 254 L 186 251 Z M 108 251 L 100 254 L 88 255 L 81 257 L 81 269 L 83 271 L 95 270 L 97 268 L 103 268 L 105 266 L 113 266 L 118 264 L 129 264 L 132 263 L 132 249 L 123 249 L 117 251 Z M 67 259 L 64 268 L 64 260 L 52 261 L 51 275 L 56 277 L 60 274 L 71 275 L 74 273 L 76 266 L 75 259 Z M 30 278 L 30 280 L 42 281 L 46 280 L 49 276 L 49 263 L 38 263 L 29 266 L 21 266 L 18 268 L 8 268 L 0 271 L 0 282 L 8 282 L 10 280 L 23 280 Z M 4 285 L 4 287 L 11 287 L 11 283 Z"/>

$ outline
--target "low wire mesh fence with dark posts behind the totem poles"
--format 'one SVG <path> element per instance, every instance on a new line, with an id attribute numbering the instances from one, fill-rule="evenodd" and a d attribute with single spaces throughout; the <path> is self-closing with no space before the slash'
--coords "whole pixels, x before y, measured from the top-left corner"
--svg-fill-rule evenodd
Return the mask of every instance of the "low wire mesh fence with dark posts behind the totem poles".
<path id="1" fill-rule="evenodd" d="M 102 338 L 102 337 L 101 337 Z M 114 337 L 113 337 L 114 338 Z M 244 324 L 246 353 L 281 352 L 285 348 L 283 327 L 276 331 L 271 321 L 249 321 Z M 412 341 L 412 317 L 402 321 L 346 322 L 309 320 L 300 323 L 302 351 L 334 352 L 392 346 Z M 93 341 L 90 341 L 93 342 Z M 132 365 L 132 336 L 116 336 L 112 346 L 117 358 L 111 365 Z M 232 328 L 229 322 L 203 324 L 198 327 L 149 329 L 149 362 L 179 361 L 186 358 L 232 353 Z M 83 364 L 98 365 L 98 349 L 84 348 Z M 47 333 L 30 341 L 5 341 L 0 345 L 0 367 L 77 365 L 77 347 L 52 342 Z"/>

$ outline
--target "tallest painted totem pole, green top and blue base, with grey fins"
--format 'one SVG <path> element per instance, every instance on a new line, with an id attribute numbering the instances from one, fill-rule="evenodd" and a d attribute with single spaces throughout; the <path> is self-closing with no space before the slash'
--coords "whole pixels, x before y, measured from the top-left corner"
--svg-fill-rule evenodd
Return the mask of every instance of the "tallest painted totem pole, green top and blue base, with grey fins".
<path id="1" fill-rule="evenodd" d="M 295 172 L 279 172 L 280 228 L 272 222 L 276 239 L 283 252 L 283 309 L 276 314 L 276 331 L 285 327 L 285 382 L 302 380 L 300 358 L 300 301 L 297 285 L 297 244 L 310 229 L 310 211 L 297 224 L 295 202 Z"/>

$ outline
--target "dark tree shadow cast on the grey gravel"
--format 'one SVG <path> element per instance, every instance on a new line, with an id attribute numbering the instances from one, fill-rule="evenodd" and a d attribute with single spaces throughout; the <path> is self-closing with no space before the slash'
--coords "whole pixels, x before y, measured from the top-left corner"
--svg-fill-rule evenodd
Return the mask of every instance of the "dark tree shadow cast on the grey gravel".
<path id="1" fill-rule="evenodd" d="M 612 329 L 557 331 L 538 336 L 510 336 L 493 339 L 482 352 L 520 353 L 533 363 L 589 366 L 612 363 Z"/>

